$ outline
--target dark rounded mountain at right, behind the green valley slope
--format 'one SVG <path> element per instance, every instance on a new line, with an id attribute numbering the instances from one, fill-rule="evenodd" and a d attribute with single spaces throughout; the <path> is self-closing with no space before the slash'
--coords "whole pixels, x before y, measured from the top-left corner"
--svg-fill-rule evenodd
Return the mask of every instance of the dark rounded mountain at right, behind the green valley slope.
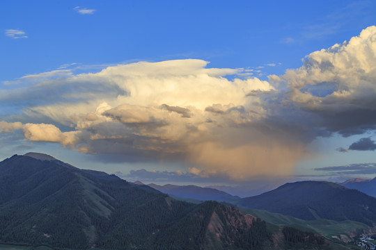
<path id="1" fill-rule="evenodd" d="M 352 220 L 369 226 L 376 223 L 374 197 L 325 181 L 286 183 L 264 194 L 240 199 L 237 204 L 306 220 Z"/>

